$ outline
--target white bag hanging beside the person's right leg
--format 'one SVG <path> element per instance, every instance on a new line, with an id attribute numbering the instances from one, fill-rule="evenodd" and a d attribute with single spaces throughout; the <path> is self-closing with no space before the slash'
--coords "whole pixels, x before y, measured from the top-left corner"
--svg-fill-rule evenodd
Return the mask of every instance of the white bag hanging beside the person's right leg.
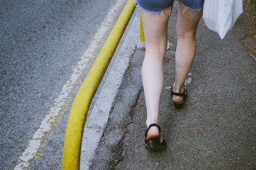
<path id="1" fill-rule="evenodd" d="M 221 39 L 232 29 L 243 13 L 243 0 L 205 0 L 204 22 L 209 29 L 218 32 Z"/>

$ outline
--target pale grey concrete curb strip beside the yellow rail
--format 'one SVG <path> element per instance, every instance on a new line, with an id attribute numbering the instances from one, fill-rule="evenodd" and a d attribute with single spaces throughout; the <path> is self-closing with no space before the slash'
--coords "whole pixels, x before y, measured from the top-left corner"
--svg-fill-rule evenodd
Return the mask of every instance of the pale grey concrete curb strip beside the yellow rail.
<path id="1" fill-rule="evenodd" d="M 128 27 L 124 43 L 113 57 L 111 70 L 104 82 L 97 101 L 95 101 L 92 112 L 87 118 L 81 148 L 81 169 L 89 169 L 90 167 L 91 160 L 108 122 L 109 113 L 111 112 L 113 103 L 115 103 L 116 94 L 122 84 L 124 73 L 129 66 L 129 60 L 134 50 L 136 50 L 136 44 L 140 36 L 140 14 L 134 11 L 134 15 L 131 24 L 129 24 L 131 26 Z"/>

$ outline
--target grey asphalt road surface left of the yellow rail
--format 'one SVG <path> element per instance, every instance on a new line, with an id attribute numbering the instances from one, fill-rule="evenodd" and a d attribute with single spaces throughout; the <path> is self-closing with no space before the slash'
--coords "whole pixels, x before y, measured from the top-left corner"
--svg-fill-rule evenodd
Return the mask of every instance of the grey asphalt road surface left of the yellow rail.
<path id="1" fill-rule="evenodd" d="M 0 169 L 61 169 L 72 99 L 124 4 L 0 1 Z"/>

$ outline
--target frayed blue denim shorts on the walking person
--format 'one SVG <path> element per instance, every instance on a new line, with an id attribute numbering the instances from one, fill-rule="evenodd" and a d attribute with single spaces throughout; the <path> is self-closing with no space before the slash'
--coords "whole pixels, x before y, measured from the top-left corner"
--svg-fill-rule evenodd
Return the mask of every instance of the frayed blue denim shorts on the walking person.
<path id="1" fill-rule="evenodd" d="M 148 13 L 159 13 L 172 6 L 174 0 L 135 0 L 136 5 Z M 204 0 L 181 0 L 189 9 L 200 11 L 204 7 Z M 212 0 L 214 1 L 214 0 Z M 224 0 L 225 1 L 225 0 Z"/>

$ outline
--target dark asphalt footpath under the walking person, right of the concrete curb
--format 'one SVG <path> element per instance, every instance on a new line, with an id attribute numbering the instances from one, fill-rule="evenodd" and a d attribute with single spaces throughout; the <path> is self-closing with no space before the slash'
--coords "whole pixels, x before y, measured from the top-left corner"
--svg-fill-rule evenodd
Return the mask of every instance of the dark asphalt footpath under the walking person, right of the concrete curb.
<path id="1" fill-rule="evenodd" d="M 181 110 L 173 108 L 169 89 L 175 49 L 166 53 L 160 117 L 168 148 L 163 152 L 150 153 L 144 146 L 140 71 L 145 50 L 136 50 L 91 169 L 256 169 L 256 62 L 244 47 L 255 45 L 255 38 L 247 34 L 252 23 L 246 13 L 224 40 L 200 22 L 188 100 Z M 176 18 L 177 3 L 168 37 L 174 45 Z"/>

